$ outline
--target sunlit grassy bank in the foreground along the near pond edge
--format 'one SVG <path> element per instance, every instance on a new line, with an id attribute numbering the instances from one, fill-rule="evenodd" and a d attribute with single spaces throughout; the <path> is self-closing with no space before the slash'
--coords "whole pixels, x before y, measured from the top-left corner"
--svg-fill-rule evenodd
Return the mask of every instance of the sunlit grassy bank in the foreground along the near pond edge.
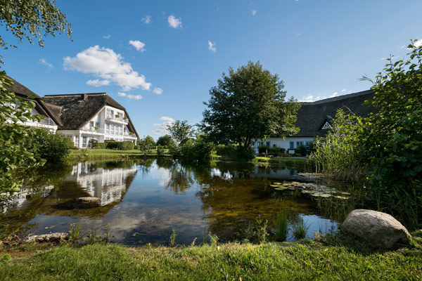
<path id="1" fill-rule="evenodd" d="M 0 280 L 418 280 L 421 238 L 416 241 L 392 251 L 338 237 L 179 248 L 64 244 L 40 250 L 32 244 L 1 250 Z"/>

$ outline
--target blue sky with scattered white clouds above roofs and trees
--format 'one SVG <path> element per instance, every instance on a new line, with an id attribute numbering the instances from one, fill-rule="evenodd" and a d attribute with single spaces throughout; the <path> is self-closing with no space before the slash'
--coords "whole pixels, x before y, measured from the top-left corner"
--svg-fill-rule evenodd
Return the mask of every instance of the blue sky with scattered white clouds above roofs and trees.
<path id="1" fill-rule="evenodd" d="M 118 6 L 116 6 L 118 4 Z M 385 58 L 422 44 L 421 0 L 65 1 L 72 41 L 17 39 L 1 50 L 7 74 L 39 96 L 106 92 L 139 136 L 176 119 L 197 124 L 229 67 L 260 60 L 287 91 L 313 101 L 365 91 Z"/>

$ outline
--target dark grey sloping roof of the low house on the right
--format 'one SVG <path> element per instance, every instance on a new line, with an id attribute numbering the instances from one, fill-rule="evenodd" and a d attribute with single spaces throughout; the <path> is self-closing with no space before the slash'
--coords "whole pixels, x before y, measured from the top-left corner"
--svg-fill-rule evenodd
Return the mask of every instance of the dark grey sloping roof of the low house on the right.
<path id="1" fill-rule="evenodd" d="M 366 116 L 371 112 L 370 107 L 363 105 L 365 100 L 373 97 L 373 91 L 362 91 L 350 93 L 335 98 L 317 100 L 313 103 L 302 103 L 298 110 L 298 119 L 295 126 L 300 128 L 299 133 L 294 136 L 324 136 L 326 130 L 321 130 L 326 122 L 332 122 L 338 109 L 345 112 L 352 112 L 358 116 Z"/>

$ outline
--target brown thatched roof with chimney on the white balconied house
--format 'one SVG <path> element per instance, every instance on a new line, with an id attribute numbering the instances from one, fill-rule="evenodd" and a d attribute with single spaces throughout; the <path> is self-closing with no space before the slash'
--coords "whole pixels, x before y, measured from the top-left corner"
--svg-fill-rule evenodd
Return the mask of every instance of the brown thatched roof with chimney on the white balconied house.
<path id="1" fill-rule="evenodd" d="M 61 121 L 59 129 L 79 130 L 103 107 L 110 105 L 124 111 L 128 118 L 128 129 L 138 136 L 132 120 L 122 105 L 113 100 L 107 93 L 72 93 L 63 95 L 46 95 L 42 98 L 50 103 L 49 109 Z M 138 136 L 139 137 L 139 136 Z"/>

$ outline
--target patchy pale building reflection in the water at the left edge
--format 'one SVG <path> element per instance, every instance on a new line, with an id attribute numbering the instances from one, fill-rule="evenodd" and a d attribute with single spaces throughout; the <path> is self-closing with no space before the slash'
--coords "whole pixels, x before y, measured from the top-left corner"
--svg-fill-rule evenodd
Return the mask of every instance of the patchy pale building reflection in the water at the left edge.
<path id="1" fill-rule="evenodd" d="M 20 192 L 15 193 L 9 200 L 1 201 L 0 212 L 6 213 L 11 209 L 20 209 L 31 197 L 47 197 L 54 185 L 43 185 L 39 188 L 24 187 Z M 6 195 L 6 194 L 1 194 Z"/>

